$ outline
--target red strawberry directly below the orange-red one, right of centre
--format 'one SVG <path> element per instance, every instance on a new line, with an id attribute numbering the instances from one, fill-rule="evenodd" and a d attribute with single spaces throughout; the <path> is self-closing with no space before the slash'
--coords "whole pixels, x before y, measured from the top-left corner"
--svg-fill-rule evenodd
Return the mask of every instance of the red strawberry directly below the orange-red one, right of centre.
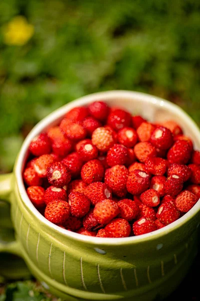
<path id="1" fill-rule="evenodd" d="M 145 162 L 146 170 L 154 176 L 163 176 L 167 169 L 167 161 L 162 158 L 149 158 Z"/>

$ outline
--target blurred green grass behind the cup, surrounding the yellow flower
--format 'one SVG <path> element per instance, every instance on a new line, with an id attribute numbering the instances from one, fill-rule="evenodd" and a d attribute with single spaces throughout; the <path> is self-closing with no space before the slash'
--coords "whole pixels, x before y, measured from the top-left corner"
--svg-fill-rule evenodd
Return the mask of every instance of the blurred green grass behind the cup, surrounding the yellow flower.
<path id="1" fill-rule="evenodd" d="M 15 16 L 34 26 L 6 45 Z M 57 107 L 88 93 L 127 89 L 164 97 L 200 122 L 197 0 L 0 2 L 0 170 L 23 137 Z"/>

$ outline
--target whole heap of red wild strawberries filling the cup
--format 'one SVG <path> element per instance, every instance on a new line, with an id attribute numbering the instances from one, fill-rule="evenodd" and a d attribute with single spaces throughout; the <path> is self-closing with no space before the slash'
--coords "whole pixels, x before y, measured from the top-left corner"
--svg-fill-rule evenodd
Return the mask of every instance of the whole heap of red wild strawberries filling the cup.
<path id="1" fill-rule="evenodd" d="M 95 101 L 29 145 L 27 195 L 50 222 L 79 234 L 160 229 L 200 198 L 200 152 L 174 121 L 159 124 Z"/>

